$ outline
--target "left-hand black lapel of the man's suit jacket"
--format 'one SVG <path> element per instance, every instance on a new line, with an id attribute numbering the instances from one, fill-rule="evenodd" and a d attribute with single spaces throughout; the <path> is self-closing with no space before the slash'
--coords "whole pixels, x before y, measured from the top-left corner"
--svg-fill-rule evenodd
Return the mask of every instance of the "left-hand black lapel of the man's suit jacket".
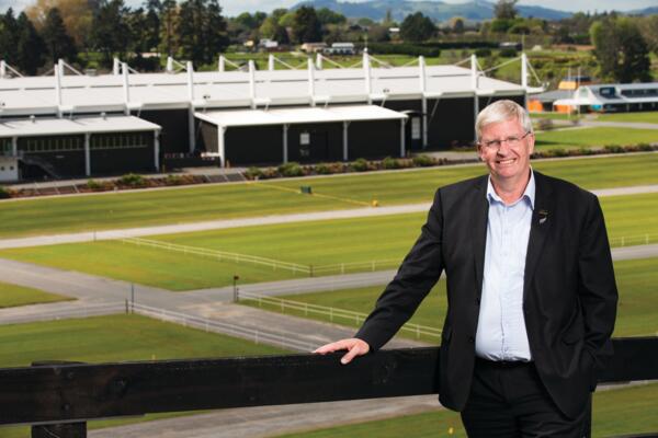
<path id="1" fill-rule="evenodd" d="M 478 180 L 474 189 L 475 201 L 468 228 L 473 237 L 473 256 L 475 266 L 475 286 L 479 298 L 483 293 L 483 277 L 485 270 L 485 247 L 487 245 L 487 221 L 489 219 L 489 201 L 487 200 L 488 177 Z"/>

